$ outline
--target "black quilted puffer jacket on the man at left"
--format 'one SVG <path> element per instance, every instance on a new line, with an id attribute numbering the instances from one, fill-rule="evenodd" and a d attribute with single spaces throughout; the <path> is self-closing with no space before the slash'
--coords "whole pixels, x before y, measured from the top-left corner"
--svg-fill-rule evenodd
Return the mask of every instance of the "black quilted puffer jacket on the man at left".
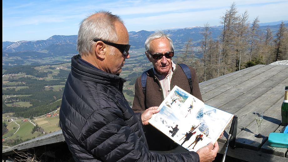
<path id="1" fill-rule="evenodd" d="M 149 152 L 141 114 L 123 93 L 125 79 L 72 58 L 60 109 L 60 127 L 75 161 L 199 161 L 195 152 Z"/>

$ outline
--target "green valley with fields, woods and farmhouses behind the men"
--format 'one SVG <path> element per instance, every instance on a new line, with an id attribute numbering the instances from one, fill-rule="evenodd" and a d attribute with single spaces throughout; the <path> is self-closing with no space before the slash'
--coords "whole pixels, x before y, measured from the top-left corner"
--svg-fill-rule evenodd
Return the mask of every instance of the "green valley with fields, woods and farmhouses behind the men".
<path id="1" fill-rule="evenodd" d="M 60 129 L 58 116 L 48 118 L 44 115 L 51 112 L 54 114 L 61 106 L 65 80 L 71 70 L 70 66 L 70 63 L 22 65 L 3 70 L 2 114 L 7 132 L 2 138 L 6 139 L 5 145 L 13 146 L 44 135 L 43 132 L 32 134 L 32 129 L 37 129 L 32 123 L 41 127 L 45 133 Z M 125 63 L 120 75 L 127 79 L 123 92 L 130 105 L 134 99 L 136 78 L 151 67 L 152 64 L 143 54 L 131 56 Z M 59 113 L 56 112 L 56 114 Z"/>

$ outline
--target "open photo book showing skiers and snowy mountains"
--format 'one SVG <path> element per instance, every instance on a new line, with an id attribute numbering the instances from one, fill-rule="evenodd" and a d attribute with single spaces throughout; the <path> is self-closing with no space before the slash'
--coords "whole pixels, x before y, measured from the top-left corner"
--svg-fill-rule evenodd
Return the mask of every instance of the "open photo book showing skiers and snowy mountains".
<path id="1" fill-rule="evenodd" d="M 188 151 L 216 143 L 234 115 L 204 104 L 175 86 L 149 123 Z"/>

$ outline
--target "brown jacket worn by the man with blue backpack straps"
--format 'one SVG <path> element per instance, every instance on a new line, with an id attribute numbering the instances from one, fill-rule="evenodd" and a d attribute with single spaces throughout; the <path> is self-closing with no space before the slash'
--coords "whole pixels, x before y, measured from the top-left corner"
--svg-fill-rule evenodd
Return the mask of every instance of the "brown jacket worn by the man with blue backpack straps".
<path id="1" fill-rule="evenodd" d="M 179 65 L 176 65 L 172 79 L 171 89 L 177 85 L 193 96 L 203 101 L 201 92 L 199 89 L 199 83 L 194 68 L 189 66 L 192 76 L 193 92 L 191 92 L 188 79 Z M 157 77 L 154 75 L 153 70 L 150 69 L 147 75 L 146 81 L 146 98 L 142 91 L 141 77 L 136 79 L 135 83 L 135 97 L 133 101 L 132 109 L 135 113 L 139 113 L 152 106 L 159 106 L 164 100 L 162 93 L 162 87 Z M 154 151 L 167 151 L 177 147 L 169 137 L 157 130 L 151 125 L 145 125 L 143 127 L 149 150 Z"/>

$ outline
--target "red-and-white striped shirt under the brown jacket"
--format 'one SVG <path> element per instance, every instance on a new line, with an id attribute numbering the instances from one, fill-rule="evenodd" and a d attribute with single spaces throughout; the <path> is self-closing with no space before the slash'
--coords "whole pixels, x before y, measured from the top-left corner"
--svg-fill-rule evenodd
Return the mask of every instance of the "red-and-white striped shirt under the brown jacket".
<path id="1" fill-rule="evenodd" d="M 170 93 L 171 78 L 173 76 L 174 70 L 176 69 L 176 64 L 173 63 L 172 60 L 171 60 L 171 63 L 172 63 L 172 68 L 171 68 L 171 70 L 167 76 L 163 76 L 163 75 L 156 73 L 155 68 L 153 68 L 154 74 L 157 76 L 158 80 L 160 81 L 160 85 L 162 88 L 162 93 L 163 93 L 164 99 Z"/>

